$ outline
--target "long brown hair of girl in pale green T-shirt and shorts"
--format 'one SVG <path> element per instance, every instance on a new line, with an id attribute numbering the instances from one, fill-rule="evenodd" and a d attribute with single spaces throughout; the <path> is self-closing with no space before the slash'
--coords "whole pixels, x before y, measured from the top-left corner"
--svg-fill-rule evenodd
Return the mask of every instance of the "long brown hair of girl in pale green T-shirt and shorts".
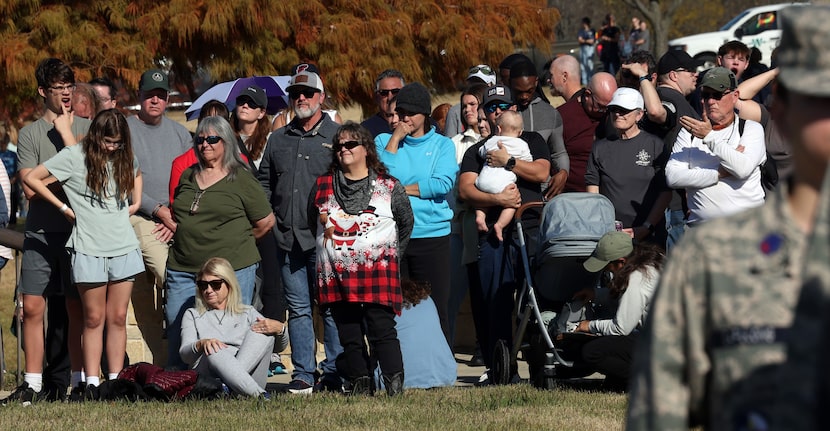
<path id="1" fill-rule="evenodd" d="M 104 149 L 104 138 L 119 138 L 121 148 L 107 152 Z M 86 185 L 92 194 L 103 200 L 107 193 L 107 184 L 110 176 L 115 181 L 117 199 L 127 199 L 135 186 L 135 172 L 133 166 L 133 146 L 130 141 L 130 128 L 127 119 L 117 109 L 105 109 L 92 120 L 89 133 L 83 140 L 83 149 L 86 164 Z M 107 162 L 112 162 L 112 171 L 107 168 Z"/>

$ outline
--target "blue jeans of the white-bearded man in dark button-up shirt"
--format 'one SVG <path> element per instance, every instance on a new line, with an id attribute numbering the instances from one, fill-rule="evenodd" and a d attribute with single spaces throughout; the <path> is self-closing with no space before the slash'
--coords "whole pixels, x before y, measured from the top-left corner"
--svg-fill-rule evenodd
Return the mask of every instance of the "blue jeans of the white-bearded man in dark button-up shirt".
<path id="1" fill-rule="evenodd" d="M 303 251 L 294 243 L 291 251 L 277 250 L 280 263 L 285 302 L 288 305 L 288 339 L 291 343 L 291 363 L 294 365 L 292 380 L 314 384 L 317 359 L 314 354 L 316 338 L 312 320 L 312 304 L 317 296 L 317 255 L 315 251 Z M 321 309 L 323 317 L 323 346 L 326 359 L 320 364 L 324 378 L 337 375 L 335 359 L 343 352 L 337 334 L 337 326 L 328 308 Z"/>

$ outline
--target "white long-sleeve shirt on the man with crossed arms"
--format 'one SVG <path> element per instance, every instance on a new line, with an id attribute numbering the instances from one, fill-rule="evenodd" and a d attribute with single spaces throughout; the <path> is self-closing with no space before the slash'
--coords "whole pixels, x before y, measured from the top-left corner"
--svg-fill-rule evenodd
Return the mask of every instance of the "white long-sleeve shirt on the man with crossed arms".
<path id="1" fill-rule="evenodd" d="M 746 121 L 743 134 L 736 120 L 703 139 L 683 129 L 666 163 L 666 182 L 686 189 L 690 223 L 711 220 L 764 203 L 760 165 L 765 160 L 764 129 L 754 121 Z M 721 167 L 731 175 L 719 178 Z"/>

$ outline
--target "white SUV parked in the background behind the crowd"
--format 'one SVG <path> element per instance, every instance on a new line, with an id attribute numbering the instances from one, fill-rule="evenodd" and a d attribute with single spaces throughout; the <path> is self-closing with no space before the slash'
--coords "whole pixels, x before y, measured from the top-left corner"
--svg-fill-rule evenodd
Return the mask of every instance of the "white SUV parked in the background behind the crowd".
<path id="1" fill-rule="evenodd" d="M 669 49 L 684 49 L 692 57 L 704 60 L 703 69 L 715 65 L 718 48 L 730 40 L 739 40 L 761 51 L 763 62 L 769 64 L 781 41 L 778 12 L 789 6 L 807 3 L 779 3 L 747 9 L 729 20 L 719 31 L 681 37 L 669 41 Z"/>

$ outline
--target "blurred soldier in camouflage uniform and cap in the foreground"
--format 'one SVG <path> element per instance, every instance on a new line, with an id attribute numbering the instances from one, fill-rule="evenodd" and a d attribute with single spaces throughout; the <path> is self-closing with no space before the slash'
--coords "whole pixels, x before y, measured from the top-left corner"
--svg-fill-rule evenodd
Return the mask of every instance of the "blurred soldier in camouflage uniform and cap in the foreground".
<path id="1" fill-rule="evenodd" d="M 792 429 L 778 423 L 782 387 L 814 380 L 783 365 L 787 341 L 809 335 L 790 336 L 830 159 L 830 8 L 791 7 L 780 18 L 773 118 L 792 145 L 793 177 L 763 207 L 692 229 L 672 251 L 638 346 L 629 429 Z M 827 271 L 828 253 L 811 257 Z M 788 372 L 801 380 L 783 379 Z"/>

